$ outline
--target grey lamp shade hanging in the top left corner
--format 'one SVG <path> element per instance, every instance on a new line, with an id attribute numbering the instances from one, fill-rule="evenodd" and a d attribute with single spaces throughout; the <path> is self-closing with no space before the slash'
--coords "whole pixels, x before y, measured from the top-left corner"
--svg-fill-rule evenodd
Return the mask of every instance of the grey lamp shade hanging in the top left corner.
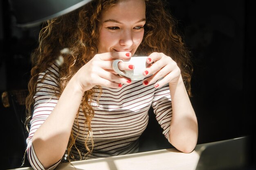
<path id="1" fill-rule="evenodd" d="M 38 26 L 42 22 L 74 11 L 91 0 L 9 0 L 19 27 Z"/>

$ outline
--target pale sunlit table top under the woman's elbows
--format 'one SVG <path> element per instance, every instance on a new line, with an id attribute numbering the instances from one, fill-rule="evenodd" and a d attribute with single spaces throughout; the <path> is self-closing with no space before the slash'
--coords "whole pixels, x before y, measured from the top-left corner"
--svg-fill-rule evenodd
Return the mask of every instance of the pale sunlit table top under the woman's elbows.
<path id="1" fill-rule="evenodd" d="M 235 139 L 230 139 L 235 140 Z M 175 148 L 155 150 L 129 155 L 61 163 L 56 170 L 195 170 L 200 155 L 207 148 L 218 143 L 198 144 L 191 153 L 182 153 Z M 31 167 L 13 170 L 33 170 Z"/>

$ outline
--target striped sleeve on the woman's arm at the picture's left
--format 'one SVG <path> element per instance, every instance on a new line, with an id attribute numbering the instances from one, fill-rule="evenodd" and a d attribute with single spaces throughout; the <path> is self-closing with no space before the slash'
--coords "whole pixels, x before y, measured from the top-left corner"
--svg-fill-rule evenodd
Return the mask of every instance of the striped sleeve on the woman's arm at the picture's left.
<path id="1" fill-rule="evenodd" d="M 59 87 L 57 83 L 58 67 L 56 64 L 52 65 L 45 72 L 42 72 L 38 76 L 38 83 L 36 87 L 36 94 L 34 95 L 34 111 L 30 120 L 30 131 L 27 137 L 27 157 L 30 165 L 35 170 L 44 170 L 42 164 L 38 160 L 36 153 L 32 145 L 32 138 L 36 130 L 43 124 L 43 122 L 52 113 L 52 110 L 58 102 Z M 43 80 L 43 81 L 41 81 Z M 61 161 L 61 160 L 60 160 Z M 60 163 L 57 162 L 52 167 L 48 168 L 52 170 Z"/>

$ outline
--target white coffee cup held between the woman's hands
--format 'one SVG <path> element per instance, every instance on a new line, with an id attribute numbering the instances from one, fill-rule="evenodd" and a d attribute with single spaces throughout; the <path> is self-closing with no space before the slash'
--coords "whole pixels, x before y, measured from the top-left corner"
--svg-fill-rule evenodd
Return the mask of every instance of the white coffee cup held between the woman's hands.
<path id="1" fill-rule="evenodd" d="M 143 75 L 143 72 L 145 71 L 146 67 L 149 65 L 146 62 L 146 59 L 148 57 L 131 57 L 130 59 L 116 59 L 112 63 L 112 68 L 113 70 L 119 74 L 120 76 L 125 76 L 130 78 L 131 80 L 143 80 L 145 76 Z M 133 70 L 120 70 L 118 68 L 118 63 L 119 62 L 124 62 L 124 63 L 129 63 L 134 65 Z"/>

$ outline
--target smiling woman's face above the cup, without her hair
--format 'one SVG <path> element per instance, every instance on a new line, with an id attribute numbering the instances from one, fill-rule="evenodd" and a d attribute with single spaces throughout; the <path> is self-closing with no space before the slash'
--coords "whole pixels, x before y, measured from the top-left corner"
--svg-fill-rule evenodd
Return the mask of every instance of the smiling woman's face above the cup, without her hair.
<path id="1" fill-rule="evenodd" d="M 99 53 L 137 50 L 146 23 L 145 0 L 121 0 L 103 11 L 99 33 Z"/>

